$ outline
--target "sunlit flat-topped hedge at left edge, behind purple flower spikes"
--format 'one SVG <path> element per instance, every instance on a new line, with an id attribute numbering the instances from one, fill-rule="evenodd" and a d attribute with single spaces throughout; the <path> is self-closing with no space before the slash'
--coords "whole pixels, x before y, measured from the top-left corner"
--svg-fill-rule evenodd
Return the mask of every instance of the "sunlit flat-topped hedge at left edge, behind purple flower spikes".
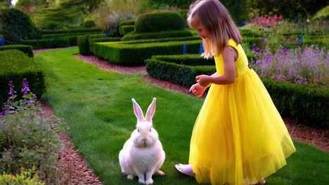
<path id="1" fill-rule="evenodd" d="M 9 92 L 9 81 L 13 81 L 18 98 L 22 96 L 22 79 L 27 78 L 32 93 L 38 99 L 46 91 L 44 73 L 34 64 L 32 58 L 19 50 L 0 51 L 0 103 L 6 102 Z"/>

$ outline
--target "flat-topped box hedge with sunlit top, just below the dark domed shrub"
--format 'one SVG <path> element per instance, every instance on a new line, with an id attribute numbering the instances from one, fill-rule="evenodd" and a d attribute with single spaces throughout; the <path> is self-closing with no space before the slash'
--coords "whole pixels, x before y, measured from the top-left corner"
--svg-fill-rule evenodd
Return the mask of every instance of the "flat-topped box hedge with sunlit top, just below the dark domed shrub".
<path id="1" fill-rule="evenodd" d="M 187 53 L 198 53 L 201 41 L 171 41 L 162 43 L 96 43 L 94 55 L 112 63 L 142 65 L 152 55 L 177 55 L 186 43 Z"/>

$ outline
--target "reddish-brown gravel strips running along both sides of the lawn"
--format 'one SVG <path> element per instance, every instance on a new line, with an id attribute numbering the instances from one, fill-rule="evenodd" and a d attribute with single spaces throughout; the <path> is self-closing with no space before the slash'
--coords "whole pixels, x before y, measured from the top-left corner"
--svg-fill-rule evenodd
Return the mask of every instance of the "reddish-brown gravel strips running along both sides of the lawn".
<path id="1" fill-rule="evenodd" d="M 49 49 L 41 49 L 34 50 L 34 55 L 40 53 L 42 51 Z M 145 74 L 145 81 L 148 83 L 152 83 L 154 85 L 158 85 L 162 88 L 167 88 L 169 90 L 174 90 L 180 93 L 188 93 L 188 88 L 183 85 L 170 83 L 168 81 L 162 81 L 156 78 L 152 78 L 147 75 L 146 67 L 122 67 L 117 64 L 111 64 L 106 60 L 101 60 L 98 57 L 93 55 L 75 55 L 75 57 L 83 60 L 84 62 L 89 62 L 91 64 L 100 67 L 101 69 L 108 71 L 115 71 L 123 74 Z M 42 102 L 44 107 L 44 111 L 46 115 L 51 116 L 53 112 L 51 111 L 51 107 L 46 102 Z M 288 132 L 291 137 L 299 142 L 307 142 L 312 144 L 323 151 L 329 152 L 329 132 L 328 130 L 321 130 L 318 128 L 313 128 L 304 125 L 297 125 L 295 121 L 292 121 L 290 118 L 283 118 L 285 121 L 285 125 L 288 128 Z M 61 134 L 60 139 L 63 140 L 65 144 L 65 148 L 61 152 L 60 159 L 58 163 L 62 165 L 60 170 L 63 170 L 67 177 L 63 177 L 62 181 L 65 184 L 73 185 L 73 184 L 93 184 L 98 185 L 101 184 L 101 181 L 98 179 L 96 174 L 92 172 L 92 170 L 88 167 L 86 161 L 82 156 L 79 155 L 79 152 L 75 149 L 73 144 L 70 142 L 70 138 L 67 137 L 65 133 Z"/>

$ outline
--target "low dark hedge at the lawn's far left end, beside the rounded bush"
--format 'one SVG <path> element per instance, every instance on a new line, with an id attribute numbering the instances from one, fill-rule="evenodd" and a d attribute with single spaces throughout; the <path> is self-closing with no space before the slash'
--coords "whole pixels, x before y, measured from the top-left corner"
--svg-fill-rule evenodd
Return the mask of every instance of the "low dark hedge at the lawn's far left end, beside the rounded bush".
<path id="1" fill-rule="evenodd" d="M 70 41 L 67 38 L 62 39 L 39 39 L 22 41 L 26 45 L 33 46 L 34 50 L 41 48 L 66 48 L 70 46 Z"/>

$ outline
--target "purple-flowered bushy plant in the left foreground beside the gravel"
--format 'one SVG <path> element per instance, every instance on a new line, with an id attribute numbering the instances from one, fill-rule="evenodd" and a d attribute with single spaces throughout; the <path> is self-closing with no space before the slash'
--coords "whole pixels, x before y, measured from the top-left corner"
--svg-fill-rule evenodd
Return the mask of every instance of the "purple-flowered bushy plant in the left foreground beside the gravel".
<path id="1" fill-rule="evenodd" d="M 37 167 L 43 179 L 56 167 L 63 144 L 58 134 L 66 129 L 60 118 L 45 118 L 37 97 L 30 92 L 26 78 L 22 81 L 22 99 L 9 81 L 9 97 L 0 116 L 0 173 L 17 174 L 20 168 Z"/>

